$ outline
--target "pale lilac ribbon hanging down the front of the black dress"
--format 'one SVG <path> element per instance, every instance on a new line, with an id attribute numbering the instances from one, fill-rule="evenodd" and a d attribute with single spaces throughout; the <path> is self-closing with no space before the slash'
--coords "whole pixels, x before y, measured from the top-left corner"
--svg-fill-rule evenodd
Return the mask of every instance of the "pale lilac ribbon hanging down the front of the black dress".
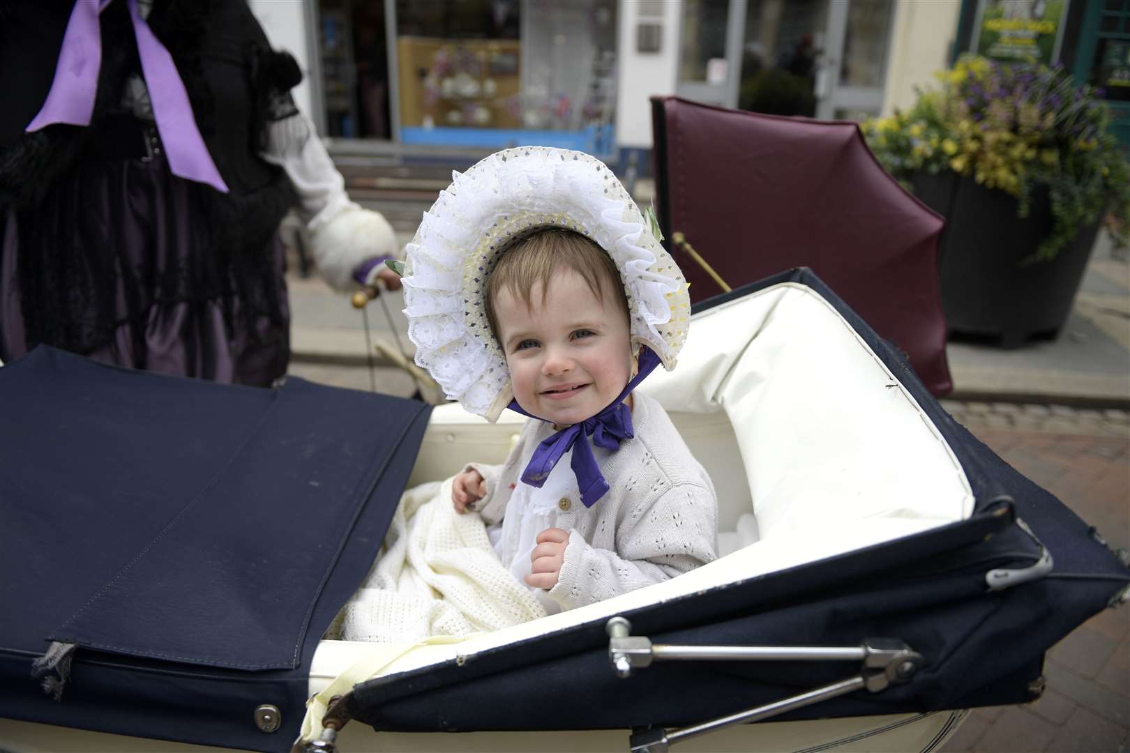
<path id="1" fill-rule="evenodd" d="M 25 129 L 28 132 L 53 123 L 89 125 L 94 97 L 102 68 L 102 29 L 98 15 L 112 0 L 76 0 L 67 21 L 63 45 L 55 64 L 51 90 L 38 114 Z M 184 81 L 176 72 L 173 56 L 138 14 L 137 0 L 127 0 L 133 35 L 141 58 L 141 75 L 149 89 L 157 132 L 165 147 L 173 175 L 206 183 L 227 193 L 227 184 L 208 154 L 203 137 L 192 116 L 192 105 Z"/>

